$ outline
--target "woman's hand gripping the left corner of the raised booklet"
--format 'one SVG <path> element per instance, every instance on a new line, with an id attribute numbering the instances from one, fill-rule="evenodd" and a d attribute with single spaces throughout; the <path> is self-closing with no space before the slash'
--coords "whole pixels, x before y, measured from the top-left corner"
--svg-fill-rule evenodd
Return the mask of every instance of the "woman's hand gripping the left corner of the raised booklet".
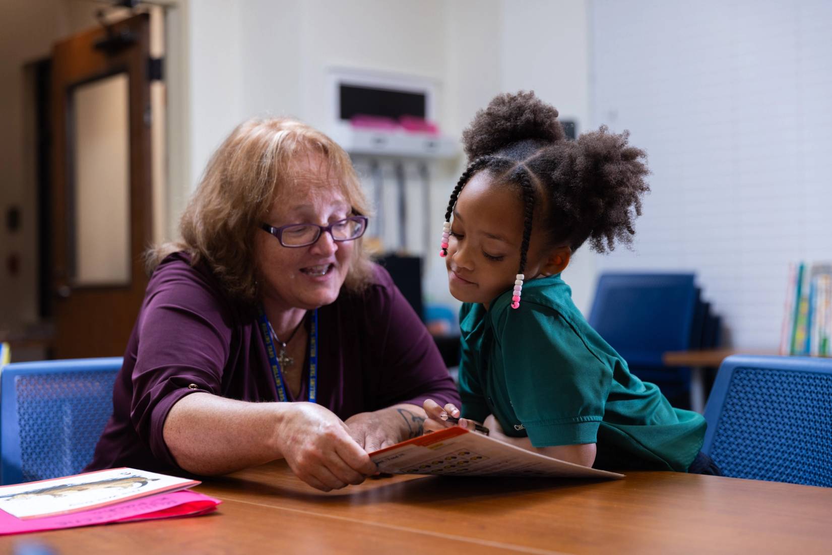
<path id="1" fill-rule="evenodd" d="M 332 412 L 314 403 L 281 405 L 288 410 L 276 440 L 292 472 L 305 483 L 328 492 L 362 483 L 377 472 L 347 425 Z"/>

